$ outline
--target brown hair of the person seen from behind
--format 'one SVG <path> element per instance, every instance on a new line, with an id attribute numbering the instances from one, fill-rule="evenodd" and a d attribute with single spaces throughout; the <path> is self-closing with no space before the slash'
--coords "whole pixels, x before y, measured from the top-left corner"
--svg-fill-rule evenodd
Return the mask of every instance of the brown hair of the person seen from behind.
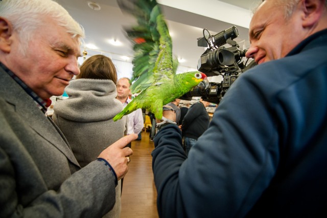
<path id="1" fill-rule="evenodd" d="M 117 72 L 109 57 L 94 55 L 87 58 L 80 67 L 81 73 L 76 79 L 110 79 L 115 84 Z"/>

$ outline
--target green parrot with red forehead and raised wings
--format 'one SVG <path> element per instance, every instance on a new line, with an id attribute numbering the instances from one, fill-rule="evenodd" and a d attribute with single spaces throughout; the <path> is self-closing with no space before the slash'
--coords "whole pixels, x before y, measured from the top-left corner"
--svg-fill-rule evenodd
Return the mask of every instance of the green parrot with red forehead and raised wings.
<path id="1" fill-rule="evenodd" d="M 119 120 L 137 108 L 162 118 L 162 106 L 191 91 L 206 75 L 198 71 L 176 74 L 172 39 L 166 20 L 155 0 L 117 0 L 123 12 L 132 14 L 137 25 L 125 28 L 133 43 L 134 81 L 130 89 L 137 95 L 113 120 Z"/>

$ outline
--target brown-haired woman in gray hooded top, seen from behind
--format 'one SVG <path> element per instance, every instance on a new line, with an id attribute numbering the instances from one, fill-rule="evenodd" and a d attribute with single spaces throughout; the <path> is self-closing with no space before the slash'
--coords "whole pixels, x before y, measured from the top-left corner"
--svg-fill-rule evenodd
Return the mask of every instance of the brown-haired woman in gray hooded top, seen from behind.
<path id="1" fill-rule="evenodd" d="M 114 122 L 123 104 L 115 99 L 116 69 L 110 58 L 94 55 L 84 61 L 81 73 L 69 82 L 69 98 L 54 105 L 53 121 L 71 145 L 81 167 L 97 159 L 107 146 L 124 137 L 126 117 Z M 118 181 L 116 203 L 104 217 L 120 217 L 121 181 Z"/>

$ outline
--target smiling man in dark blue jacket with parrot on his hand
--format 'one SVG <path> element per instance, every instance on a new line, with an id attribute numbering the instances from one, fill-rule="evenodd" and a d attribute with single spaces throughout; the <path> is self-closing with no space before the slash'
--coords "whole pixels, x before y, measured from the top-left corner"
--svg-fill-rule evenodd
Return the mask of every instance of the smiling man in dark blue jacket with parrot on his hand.
<path id="1" fill-rule="evenodd" d="M 326 28 L 325 0 L 256 9 L 246 56 L 259 66 L 233 83 L 188 157 L 179 128 L 160 125 L 160 217 L 327 216 Z"/>

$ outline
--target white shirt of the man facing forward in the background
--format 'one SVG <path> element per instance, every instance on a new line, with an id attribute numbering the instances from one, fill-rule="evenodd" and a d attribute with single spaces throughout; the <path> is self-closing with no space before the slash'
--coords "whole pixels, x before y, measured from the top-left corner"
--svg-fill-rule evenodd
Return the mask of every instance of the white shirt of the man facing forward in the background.
<path id="1" fill-rule="evenodd" d="M 132 101 L 131 99 L 127 98 L 123 106 L 126 107 L 127 104 L 131 101 Z M 138 108 L 137 110 L 128 114 L 127 117 L 128 117 L 127 135 L 133 133 L 139 134 L 144 127 L 143 113 L 141 108 Z"/>

